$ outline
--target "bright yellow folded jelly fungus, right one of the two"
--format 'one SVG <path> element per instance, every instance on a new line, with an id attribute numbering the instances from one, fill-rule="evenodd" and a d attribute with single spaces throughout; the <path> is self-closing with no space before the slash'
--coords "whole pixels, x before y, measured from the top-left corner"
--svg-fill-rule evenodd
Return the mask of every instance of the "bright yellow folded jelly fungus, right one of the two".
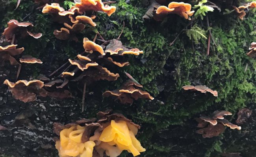
<path id="1" fill-rule="evenodd" d="M 113 150 L 113 147 L 116 146 L 121 152 L 122 150 L 127 150 L 134 156 L 137 156 L 140 152 L 145 152 L 145 148 L 135 138 L 135 134 L 137 134 L 137 128 L 134 125 L 127 124 L 123 120 L 117 122 L 111 120 L 111 124 L 100 135 L 100 141 L 102 143 L 99 146 L 106 150 L 107 155 L 110 153 L 109 150 Z"/>

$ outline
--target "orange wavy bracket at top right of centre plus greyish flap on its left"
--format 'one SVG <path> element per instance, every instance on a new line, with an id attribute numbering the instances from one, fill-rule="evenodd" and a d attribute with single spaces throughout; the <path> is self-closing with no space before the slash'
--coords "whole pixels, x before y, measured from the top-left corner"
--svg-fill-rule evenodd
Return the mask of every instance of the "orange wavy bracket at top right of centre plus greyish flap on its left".
<path id="1" fill-rule="evenodd" d="M 171 2 L 168 4 L 168 7 L 160 5 L 159 3 L 163 4 L 159 0 L 157 0 L 157 2 L 152 0 L 147 13 L 143 16 L 143 19 L 150 19 L 153 17 L 156 21 L 162 21 L 168 14 L 177 14 L 191 20 L 190 16 L 195 12 L 191 11 L 190 4 L 184 2 Z"/>

